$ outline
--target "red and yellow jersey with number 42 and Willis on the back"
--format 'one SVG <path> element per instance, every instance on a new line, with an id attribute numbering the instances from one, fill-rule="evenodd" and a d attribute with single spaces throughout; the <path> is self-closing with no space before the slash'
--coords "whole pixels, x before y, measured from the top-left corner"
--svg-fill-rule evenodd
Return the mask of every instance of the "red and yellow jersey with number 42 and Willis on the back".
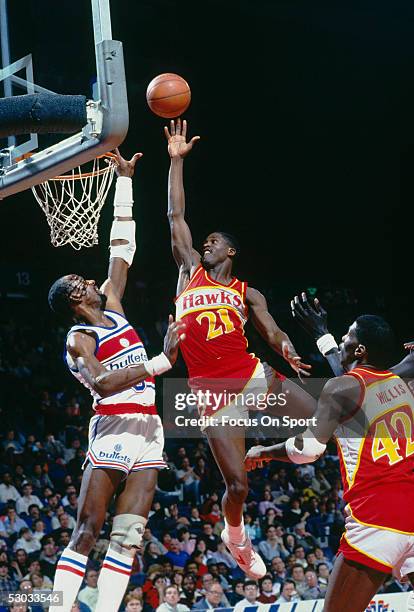
<path id="1" fill-rule="evenodd" d="M 355 413 L 335 431 L 344 500 L 357 522 L 414 534 L 414 397 L 390 371 L 357 367 Z"/>

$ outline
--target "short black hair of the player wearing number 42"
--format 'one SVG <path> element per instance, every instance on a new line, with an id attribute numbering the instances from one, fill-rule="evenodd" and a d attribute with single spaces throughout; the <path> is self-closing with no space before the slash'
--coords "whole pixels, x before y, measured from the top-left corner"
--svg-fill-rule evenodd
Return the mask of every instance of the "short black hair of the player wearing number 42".
<path id="1" fill-rule="evenodd" d="M 355 322 L 356 336 L 366 347 L 370 363 L 377 368 L 389 368 L 395 350 L 395 336 L 389 323 L 376 315 L 361 315 Z"/>

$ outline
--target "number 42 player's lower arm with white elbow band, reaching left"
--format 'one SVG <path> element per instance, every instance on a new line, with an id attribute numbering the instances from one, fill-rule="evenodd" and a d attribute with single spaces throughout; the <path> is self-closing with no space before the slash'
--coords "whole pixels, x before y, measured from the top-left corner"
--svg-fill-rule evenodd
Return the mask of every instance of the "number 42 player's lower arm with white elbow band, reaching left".
<path id="1" fill-rule="evenodd" d="M 352 376 L 328 380 L 318 400 L 312 425 L 303 434 L 286 442 L 273 446 L 253 446 L 246 454 L 246 470 L 263 467 L 263 463 L 273 460 L 313 463 L 325 452 L 326 444 L 338 424 L 354 414 L 359 395 L 359 383 Z"/>

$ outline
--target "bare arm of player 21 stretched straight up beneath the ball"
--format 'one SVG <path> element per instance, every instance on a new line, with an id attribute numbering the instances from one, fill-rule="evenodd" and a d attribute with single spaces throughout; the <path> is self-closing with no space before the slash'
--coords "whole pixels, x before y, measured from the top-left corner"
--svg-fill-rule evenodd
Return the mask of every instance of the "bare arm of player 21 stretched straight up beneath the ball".
<path id="1" fill-rule="evenodd" d="M 193 239 L 190 228 L 185 220 L 185 193 L 183 182 L 184 158 L 199 140 L 194 136 L 186 142 L 187 122 L 181 119 L 171 121 L 170 129 L 164 128 L 168 141 L 168 153 L 171 158 L 168 175 L 168 220 L 171 230 L 171 248 L 174 259 L 180 270 L 178 292 L 184 289 L 192 271 L 200 263 L 200 254 L 193 249 Z"/>

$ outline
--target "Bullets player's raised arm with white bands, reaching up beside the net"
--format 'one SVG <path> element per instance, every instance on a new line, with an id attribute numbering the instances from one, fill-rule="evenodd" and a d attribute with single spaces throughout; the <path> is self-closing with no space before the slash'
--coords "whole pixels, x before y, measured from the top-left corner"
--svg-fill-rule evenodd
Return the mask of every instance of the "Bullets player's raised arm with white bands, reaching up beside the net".
<path id="1" fill-rule="evenodd" d="M 121 300 L 124 295 L 128 268 L 132 264 L 135 253 L 135 221 L 132 216 L 132 177 L 135 164 L 142 153 L 128 161 L 115 149 L 115 172 L 117 174 L 114 221 L 111 228 L 111 254 L 109 258 L 108 278 L 101 287 L 107 297 L 107 308 L 123 312 Z"/>

